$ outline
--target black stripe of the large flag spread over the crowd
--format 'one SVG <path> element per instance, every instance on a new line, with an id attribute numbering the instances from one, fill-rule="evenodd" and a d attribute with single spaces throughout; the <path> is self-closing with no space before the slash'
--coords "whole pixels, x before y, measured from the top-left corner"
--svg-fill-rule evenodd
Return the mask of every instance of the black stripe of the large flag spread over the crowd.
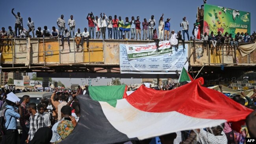
<path id="1" fill-rule="evenodd" d="M 102 111 L 98 101 L 91 100 L 89 95 L 79 95 L 81 117 L 73 132 L 60 144 L 112 144 L 126 142 L 130 139 L 113 127 Z"/>

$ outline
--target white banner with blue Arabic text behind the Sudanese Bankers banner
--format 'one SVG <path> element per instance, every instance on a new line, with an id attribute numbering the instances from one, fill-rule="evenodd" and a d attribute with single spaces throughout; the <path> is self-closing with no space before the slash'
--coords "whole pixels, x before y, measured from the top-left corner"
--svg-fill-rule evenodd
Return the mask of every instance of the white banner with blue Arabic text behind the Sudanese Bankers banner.
<path id="1" fill-rule="evenodd" d="M 187 70 L 188 63 L 184 65 L 187 57 L 188 45 L 185 44 L 185 49 L 182 45 L 178 47 L 178 50 L 173 47 L 169 54 L 129 60 L 126 44 L 119 45 L 121 74 L 175 74 L 176 70 L 180 72 L 183 66 Z"/>

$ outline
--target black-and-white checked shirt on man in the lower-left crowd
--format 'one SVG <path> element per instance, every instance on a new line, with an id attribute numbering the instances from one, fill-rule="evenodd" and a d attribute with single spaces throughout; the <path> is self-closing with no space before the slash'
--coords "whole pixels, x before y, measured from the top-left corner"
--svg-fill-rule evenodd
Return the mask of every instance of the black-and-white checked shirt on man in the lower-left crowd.
<path id="1" fill-rule="evenodd" d="M 28 140 L 32 140 L 35 132 L 41 127 L 45 127 L 44 118 L 42 114 L 39 114 L 38 112 L 33 116 L 30 116 L 30 129 L 28 132 Z"/>

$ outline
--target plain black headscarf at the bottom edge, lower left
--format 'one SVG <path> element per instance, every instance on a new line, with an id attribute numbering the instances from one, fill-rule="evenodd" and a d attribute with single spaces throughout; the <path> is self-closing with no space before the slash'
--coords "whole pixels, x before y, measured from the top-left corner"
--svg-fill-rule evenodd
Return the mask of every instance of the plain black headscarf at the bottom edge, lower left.
<path id="1" fill-rule="evenodd" d="M 52 139 L 52 129 L 41 127 L 35 133 L 33 139 L 28 144 L 49 144 Z"/>

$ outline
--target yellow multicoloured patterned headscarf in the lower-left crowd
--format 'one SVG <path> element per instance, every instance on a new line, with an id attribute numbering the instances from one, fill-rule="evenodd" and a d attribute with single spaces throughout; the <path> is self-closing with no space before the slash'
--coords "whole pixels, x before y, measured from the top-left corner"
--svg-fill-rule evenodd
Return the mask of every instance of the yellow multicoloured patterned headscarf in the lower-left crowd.
<path id="1" fill-rule="evenodd" d="M 57 142 L 55 142 L 54 144 L 58 144 L 59 142 L 61 142 L 61 140 L 65 139 L 67 136 L 69 136 L 70 133 L 72 133 L 73 129 L 74 129 L 74 126 L 71 121 L 63 120 L 63 121 L 59 122 L 59 124 L 57 126 L 57 133 L 59 134 L 61 139 L 58 140 Z"/>

